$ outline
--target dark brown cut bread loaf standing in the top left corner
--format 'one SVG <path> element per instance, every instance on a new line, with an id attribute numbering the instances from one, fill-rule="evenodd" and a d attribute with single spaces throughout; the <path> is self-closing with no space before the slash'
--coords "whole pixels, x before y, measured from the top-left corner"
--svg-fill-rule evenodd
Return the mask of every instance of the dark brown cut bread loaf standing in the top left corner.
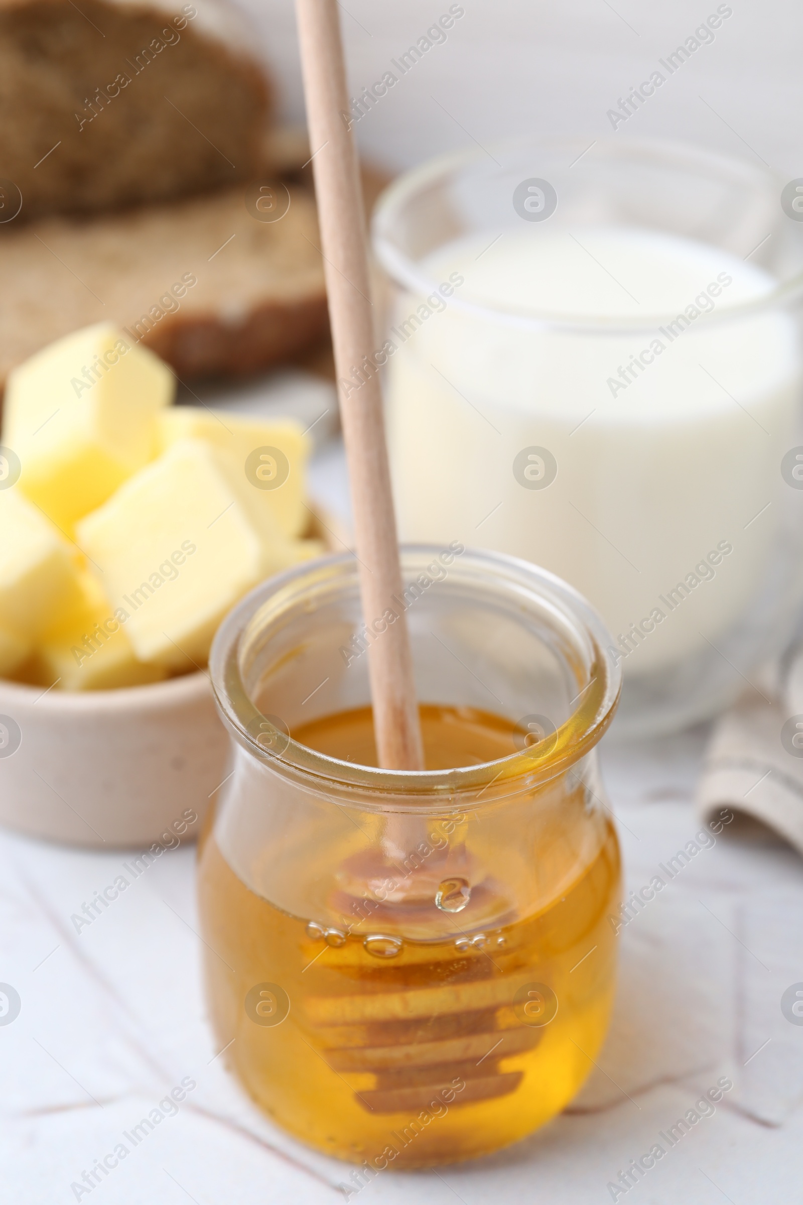
<path id="1" fill-rule="evenodd" d="M 249 41 L 219 0 L 0 0 L 0 222 L 259 175 L 270 88 Z"/>

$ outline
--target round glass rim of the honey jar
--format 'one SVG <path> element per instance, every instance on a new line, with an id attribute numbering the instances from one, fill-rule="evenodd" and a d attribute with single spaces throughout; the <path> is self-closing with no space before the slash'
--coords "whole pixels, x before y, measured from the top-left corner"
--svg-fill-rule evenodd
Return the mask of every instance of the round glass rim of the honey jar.
<path id="1" fill-rule="evenodd" d="M 400 551 L 402 560 L 405 557 L 419 556 L 431 559 L 443 552 L 443 547 L 402 545 Z M 356 582 L 358 560 L 353 552 L 332 553 L 305 562 L 268 578 L 247 594 L 224 618 L 212 645 L 209 671 L 218 710 L 235 739 L 260 762 L 274 765 L 277 771 L 283 769 L 294 774 L 313 789 L 315 786 L 318 789 L 339 786 L 373 797 L 376 810 L 385 810 L 392 799 L 392 810 L 403 811 L 400 797 L 407 797 L 411 811 L 420 811 L 421 805 L 427 804 L 438 805 L 442 810 L 443 804 L 454 800 L 456 795 L 479 793 L 482 797 L 498 783 L 492 794 L 485 797 L 490 801 L 490 798 L 519 793 L 565 772 L 597 743 L 609 727 L 619 703 L 621 669 L 618 662 L 614 663 L 607 656 L 610 636 L 602 618 L 573 587 L 530 562 L 504 553 L 466 549 L 460 557 L 460 565 L 461 569 L 472 565 L 480 568 L 500 582 L 504 581 L 519 590 L 529 589 L 532 598 L 538 596 L 557 607 L 589 641 L 594 654 L 594 674 L 572 700 L 577 706 L 571 715 L 550 735 L 548 742 L 542 742 L 549 746 L 545 751 L 539 752 L 539 746 L 533 745 L 495 762 L 449 770 L 385 770 L 329 757 L 294 741 L 289 735 L 282 739 L 281 752 L 265 750 L 258 743 L 249 731 L 249 724 L 253 724 L 254 718 L 261 718 L 261 712 L 248 700 L 243 713 L 242 703 L 238 707 L 231 698 L 234 687 L 242 700 L 248 699 L 240 666 L 241 641 L 248 634 L 252 621 L 271 600 L 277 601 L 273 617 L 277 619 L 283 613 L 282 599 L 287 600 L 288 606 L 299 601 L 303 595 L 305 583 L 318 584 L 327 576 L 333 581 L 338 575 L 349 583 Z M 386 800 L 384 805 L 383 799 Z M 360 806 L 371 807 L 372 804 L 364 800 Z"/>

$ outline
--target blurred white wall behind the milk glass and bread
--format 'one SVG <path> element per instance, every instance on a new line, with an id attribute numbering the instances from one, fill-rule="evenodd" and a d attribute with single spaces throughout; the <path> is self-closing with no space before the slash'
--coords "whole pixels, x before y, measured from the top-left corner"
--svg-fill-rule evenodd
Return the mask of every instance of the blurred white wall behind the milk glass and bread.
<path id="1" fill-rule="evenodd" d="M 244 7 L 281 83 L 281 112 L 303 119 L 295 20 L 289 5 Z M 728 6 L 730 7 L 730 6 Z M 754 154 L 786 176 L 801 170 L 803 11 L 791 0 L 734 4 L 715 40 L 695 52 L 620 133 L 693 141 Z M 386 70 L 448 4 L 409 0 L 341 5 L 349 80 L 356 90 Z M 444 45 L 433 47 L 356 127 L 360 147 L 392 170 L 501 133 L 612 133 L 618 98 L 649 78 L 716 4 L 621 0 L 468 0 Z M 665 72 L 666 74 L 666 72 Z M 438 104 L 439 102 L 439 104 Z M 448 112 L 444 112 L 444 106 Z M 450 116 L 451 114 L 451 116 Z"/>

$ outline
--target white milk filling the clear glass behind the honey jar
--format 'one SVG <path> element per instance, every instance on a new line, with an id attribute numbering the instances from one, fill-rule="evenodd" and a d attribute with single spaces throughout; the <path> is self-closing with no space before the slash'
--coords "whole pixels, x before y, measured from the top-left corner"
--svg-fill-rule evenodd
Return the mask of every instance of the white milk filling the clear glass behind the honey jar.
<path id="1" fill-rule="evenodd" d="M 707 321 L 774 281 L 679 236 L 539 227 L 489 241 L 453 243 L 423 269 L 435 282 L 460 274 L 460 302 L 510 321 L 450 302 L 403 337 L 421 299 L 398 301 L 386 396 L 401 536 L 536 562 L 615 637 L 631 634 L 619 645 L 628 674 L 677 664 L 745 611 L 777 545 L 801 380 L 793 323 L 778 311 Z M 515 311 L 620 327 L 678 313 L 687 325 L 560 334 Z M 547 488 L 514 476 L 533 446 L 557 463 Z M 543 464 L 530 465 L 538 481 Z"/>

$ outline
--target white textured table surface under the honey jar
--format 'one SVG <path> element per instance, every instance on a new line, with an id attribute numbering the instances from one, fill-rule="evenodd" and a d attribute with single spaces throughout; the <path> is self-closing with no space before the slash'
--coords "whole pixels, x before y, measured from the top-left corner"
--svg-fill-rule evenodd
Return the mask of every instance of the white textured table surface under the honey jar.
<path id="1" fill-rule="evenodd" d="M 344 515 L 342 452 L 318 454 L 313 489 Z M 627 881 L 649 882 L 693 836 L 702 729 L 603 751 Z M 0 1025 L 4 1205 L 325 1205 L 350 1168 L 270 1124 L 228 1076 L 206 1021 L 195 851 L 166 852 L 90 925 L 71 916 L 130 856 L 0 831 L 0 982 L 22 1010 Z M 626 1195 L 640 1205 L 791 1205 L 803 1178 L 803 1027 L 780 998 L 803 981 L 803 863 L 764 831 L 731 825 L 622 930 L 610 1038 L 581 1097 L 550 1125 L 478 1163 L 383 1172 L 359 1194 L 407 1205 L 612 1199 L 620 1169 L 660 1141 L 721 1075 L 734 1083 Z M 91 1192 L 113 1151 L 182 1077 L 178 1113 Z M 350 1199 L 355 1199 L 352 1197 Z M 622 1199 L 620 1195 L 619 1200 Z"/>

